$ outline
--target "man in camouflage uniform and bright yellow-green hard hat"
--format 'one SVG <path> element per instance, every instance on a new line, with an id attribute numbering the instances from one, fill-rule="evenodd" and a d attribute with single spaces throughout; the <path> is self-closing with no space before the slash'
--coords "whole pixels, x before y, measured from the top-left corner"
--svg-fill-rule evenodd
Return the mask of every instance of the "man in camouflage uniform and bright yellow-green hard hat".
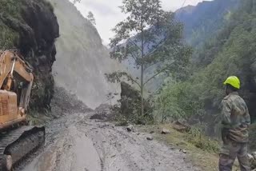
<path id="1" fill-rule="evenodd" d="M 238 95 L 240 81 L 231 76 L 224 82 L 226 97 L 222 101 L 222 141 L 219 170 L 231 171 L 238 157 L 241 171 L 250 171 L 247 157 L 250 115 L 246 102 Z"/>

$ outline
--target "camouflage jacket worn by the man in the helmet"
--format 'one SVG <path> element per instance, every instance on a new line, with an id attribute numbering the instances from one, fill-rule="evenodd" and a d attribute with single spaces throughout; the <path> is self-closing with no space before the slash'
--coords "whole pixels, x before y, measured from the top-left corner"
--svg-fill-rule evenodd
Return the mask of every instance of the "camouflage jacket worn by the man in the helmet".
<path id="1" fill-rule="evenodd" d="M 247 142 L 250 114 L 246 102 L 237 92 L 230 93 L 222 101 L 222 126 L 227 137 L 238 142 Z"/>

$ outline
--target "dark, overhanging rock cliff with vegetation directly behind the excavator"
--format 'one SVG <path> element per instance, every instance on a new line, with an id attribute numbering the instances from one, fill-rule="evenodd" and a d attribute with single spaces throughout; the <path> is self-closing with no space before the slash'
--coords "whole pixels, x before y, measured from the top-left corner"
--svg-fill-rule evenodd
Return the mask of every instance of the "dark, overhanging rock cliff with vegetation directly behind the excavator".
<path id="1" fill-rule="evenodd" d="M 50 108 L 54 94 L 51 68 L 55 61 L 58 22 L 45 0 L 0 0 L 1 49 L 18 49 L 34 68 L 30 108 Z"/>

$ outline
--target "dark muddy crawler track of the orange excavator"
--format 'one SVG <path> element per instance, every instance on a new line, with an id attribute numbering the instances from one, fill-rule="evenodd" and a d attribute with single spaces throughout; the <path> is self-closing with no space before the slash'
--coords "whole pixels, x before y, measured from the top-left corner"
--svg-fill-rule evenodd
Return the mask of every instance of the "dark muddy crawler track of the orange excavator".
<path id="1" fill-rule="evenodd" d="M 22 126 L 0 136 L 0 171 L 6 171 L 43 145 L 46 133 L 43 126 Z"/>

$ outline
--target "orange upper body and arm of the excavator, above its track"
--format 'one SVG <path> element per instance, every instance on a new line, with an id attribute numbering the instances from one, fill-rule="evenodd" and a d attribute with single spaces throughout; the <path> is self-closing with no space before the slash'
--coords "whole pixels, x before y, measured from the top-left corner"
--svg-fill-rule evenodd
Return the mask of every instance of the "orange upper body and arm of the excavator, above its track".
<path id="1" fill-rule="evenodd" d="M 16 51 L 0 51 L 0 131 L 26 120 L 33 80 L 32 68 Z"/>

